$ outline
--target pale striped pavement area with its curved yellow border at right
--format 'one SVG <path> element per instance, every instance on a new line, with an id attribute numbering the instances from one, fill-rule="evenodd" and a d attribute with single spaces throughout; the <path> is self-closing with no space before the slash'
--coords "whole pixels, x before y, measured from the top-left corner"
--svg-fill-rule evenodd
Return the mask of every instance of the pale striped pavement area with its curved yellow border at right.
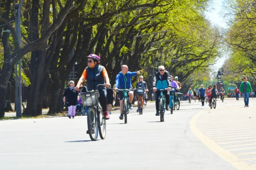
<path id="1" fill-rule="evenodd" d="M 216 109 L 201 111 L 191 120 L 201 142 L 237 169 L 256 168 L 255 101 L 250 98 L 244 107 L 243 100 L 219 100 Z"/>

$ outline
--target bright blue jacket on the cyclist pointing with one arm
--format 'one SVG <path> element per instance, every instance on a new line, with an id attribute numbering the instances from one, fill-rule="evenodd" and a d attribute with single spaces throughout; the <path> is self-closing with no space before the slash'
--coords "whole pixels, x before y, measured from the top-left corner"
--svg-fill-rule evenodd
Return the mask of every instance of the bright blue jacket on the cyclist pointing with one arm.
<path id="1" fill-rule="evenodd" d="M 115 87 L 119 89 L 129 89 L 132 87 L 132 77 L 135 77 L 137 72 L 128 71 L 125 75 L 123 75 L 122 71 L 118 73 L 116 76 L 116 84 Z"/>

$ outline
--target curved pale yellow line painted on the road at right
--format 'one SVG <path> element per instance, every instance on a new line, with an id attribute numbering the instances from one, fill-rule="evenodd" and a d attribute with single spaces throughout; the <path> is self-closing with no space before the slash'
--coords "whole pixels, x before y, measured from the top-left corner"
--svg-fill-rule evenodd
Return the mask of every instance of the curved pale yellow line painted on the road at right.
<path id="1" fill-rule="evenodd" d="M 235 155 L 231 154 L 230 151 L 223 149 L 213 140 L 205 136 L 196 126 L 196 120 L 203 111 L 197 113 L 190 121 L 190 129 L 192 133 L 213 153 L 216 153 L 219 157 L 230 163 L 234 168 L 238 170 L 256 170 L 256 168 L 246 164 Z"/>

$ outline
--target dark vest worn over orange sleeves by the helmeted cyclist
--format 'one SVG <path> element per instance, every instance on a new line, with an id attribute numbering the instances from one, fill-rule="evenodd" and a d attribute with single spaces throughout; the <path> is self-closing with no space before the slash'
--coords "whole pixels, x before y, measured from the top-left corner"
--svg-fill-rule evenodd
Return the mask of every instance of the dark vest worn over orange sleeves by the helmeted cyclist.
<path id="1" fill-rule="evenodd" d="M 97 90 L 96 87 L 99 84 L 105 84 L 105 79 L 102 76 L 102 71 L 104 67 L 101 65 L 96 65 L 94 68 L 86 68 L 87 78 L 86 78 L 86 87 L 88 91 Z M 98 90 L 105 89 L 105 87 L 100 86 Z"/>

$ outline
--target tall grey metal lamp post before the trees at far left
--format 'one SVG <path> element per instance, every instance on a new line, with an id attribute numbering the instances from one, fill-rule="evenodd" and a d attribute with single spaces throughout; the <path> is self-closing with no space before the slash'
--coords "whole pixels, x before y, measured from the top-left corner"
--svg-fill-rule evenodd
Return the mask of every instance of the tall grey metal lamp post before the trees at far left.
<path id="1" fill-rule="evenodd" d="M 15 9 L 15 26 L 16 26 L 16 35 L 18 38 L 18 43 L 20 47 L 20 14 L 21 14 L 21 6 L 23 4 L 24 0 L 21 0 L 20 3 L 14 4 L 14 9 Z M 21 59 L 19 61 L 19 95 L 18 95 L 18 86 L 17 86 L 17 64 L 16 64 L 16 70 L 15 70 L 15 97 L 16 97 L 16 116 L 21 117 L 22 116 L 22 110 L 21 110 Z"/>

